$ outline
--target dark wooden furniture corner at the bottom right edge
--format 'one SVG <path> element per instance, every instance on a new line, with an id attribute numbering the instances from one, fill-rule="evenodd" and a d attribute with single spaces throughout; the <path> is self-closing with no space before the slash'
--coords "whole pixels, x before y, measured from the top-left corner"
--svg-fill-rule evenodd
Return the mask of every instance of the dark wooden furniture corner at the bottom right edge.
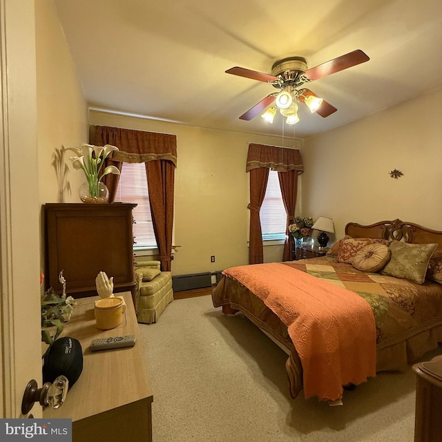
<path id="1" fill-rule="evenodd" d="M 442 356 L 413 365 L 416 373 L 414 442 L 442 441 Z"/>

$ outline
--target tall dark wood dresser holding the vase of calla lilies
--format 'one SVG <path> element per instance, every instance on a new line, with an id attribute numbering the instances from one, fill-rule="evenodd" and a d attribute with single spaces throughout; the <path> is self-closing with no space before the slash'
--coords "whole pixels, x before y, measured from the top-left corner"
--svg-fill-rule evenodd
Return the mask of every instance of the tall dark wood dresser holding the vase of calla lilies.
<path id="1" fill-rule="evenodd" d="M 134 291 L 133 216 L 136 204 L 44 204 L 45 288 L 74 298 L 97 294 L 100 271 L 113 276 L 114 292 Z"/>

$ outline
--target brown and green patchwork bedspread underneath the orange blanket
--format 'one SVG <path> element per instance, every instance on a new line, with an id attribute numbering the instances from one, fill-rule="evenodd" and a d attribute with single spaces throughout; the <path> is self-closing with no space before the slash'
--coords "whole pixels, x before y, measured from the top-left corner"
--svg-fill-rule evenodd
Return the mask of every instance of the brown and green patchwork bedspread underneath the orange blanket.
<path id="1" fill-rule="evenodd" d="M 425 352 L 434 349 L 437 347 L 437 343 L 442 340 L 442 285 L 436 282 L 425 281 L 423 285 L 418 285 L 378 273 L 363 273 L 354 269 L 352 265 L 331 262 L 327 258 L 282 262 L 276 263 L 276 265 L 287 267 L 289 271 L 294 269 L 289 277 L 292 284 L 291 289 L 287 290 L 288 293 L 298 291 L 296 281 L 302 272 L 308 274 L 305 276 L 314 276 L 327 284 L 352 291 L 358 298 L 366 301 L 366 304 L 371 307 L 375 323 L 376 371 L 403 369 L 407 366 L 407 362 L 414 361 Z M 240 267 L 254 266 L 267 267 L 269 265 Z M 265 310 L 257 303 L 259 297 L 264 301 L 264 297 L 256 293 L 257 289 L 247 287 L 241 280 L 241 276 L 232 276 L 228 273 L 225 271 L 224 277 L 213 290 L 213 305 L 215 307 L 231 305 L 235 309 L 240 309 L 256 325 L 267 329 L 287 347 L 294 348 L 286 364 L 291 383 L 291 394 L 295 397 L 300 388 L 304 387 L 305 396 L 311 396 L 310 387 L 306 391 L 309 374 L 306 373 L 306 367 L 302 362 L 302 343 L 299 343 L 293 333 L 289 332 L 290 336 L 287 336 L 287 328 L 289 327 L 287 326 L 284 331 L 284 314 L 275 311 L 275 315 L 271 313 L 271 309 L 269 309 L 271 316 L 266 314 Z M 302 279 L 305 280 L 305 278 Z M 314 279 L 310 278 L 309 280 Z M 266 287 L 272 285 L 269 276 L 263 278 L 262 285 Z M 311 283 L 311 288 L 314 291 L 313 283 Z M 264 303 L 267 305 L 266 302 Z M 287 325 L 287 318 L 285 325 Z M 363 325 L 363 327 L 367 327 L 367 325 Z M 371 333 L 371 331 L 367 332 Z M 296 355 L 300 357 L 294 357 Z M 298 368 L 296 360 L 299 361 L 299 359 L 302 367 Z M 315 363 L 315 367 L 318 367 L 318 363 Z M 366 377 L 367 373 L 364 372 L 363 376 Z M 301 385 L 299 385 L 299 381 Z M 336 388 L 340 389 L 342 385 L 345 385 L 345 379 L 342 378 L 341 381 L 338 382 L 340 386 L 336 384 Z M 336 396 L 328 393 L 324 395 L 323 392 L 317 394 L 316 391 L 313 394 L 319 398 L 329 399 Z"/>

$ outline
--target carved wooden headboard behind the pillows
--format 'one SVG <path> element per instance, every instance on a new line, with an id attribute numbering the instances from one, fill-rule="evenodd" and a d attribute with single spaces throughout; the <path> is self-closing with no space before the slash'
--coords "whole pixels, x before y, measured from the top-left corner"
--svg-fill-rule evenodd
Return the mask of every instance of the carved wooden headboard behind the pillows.
<path id="1" fill-rule="evenodd" d="M 439 249 L 442 249 L 442 231 L 427 229 L 419 224 L 414 224 L 414 222 L 381 221 L 368 226 L 349 222 L 345 226 L 345 234 L 353 238 L 383 238 L 413 244 L 437 243 Z"/>

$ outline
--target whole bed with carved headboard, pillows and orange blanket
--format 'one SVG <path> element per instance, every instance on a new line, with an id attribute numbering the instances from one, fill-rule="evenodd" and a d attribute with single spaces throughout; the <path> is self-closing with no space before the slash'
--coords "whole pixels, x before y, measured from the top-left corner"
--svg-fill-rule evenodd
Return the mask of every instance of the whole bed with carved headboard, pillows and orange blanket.
<path id="1" fill-rule="evenodd" d="M 442 231 L 351 222 L 327 256 L 225 269 L 212 300 L 286 349 L 293 398 L 339 401 L 442 342 Z"/>

